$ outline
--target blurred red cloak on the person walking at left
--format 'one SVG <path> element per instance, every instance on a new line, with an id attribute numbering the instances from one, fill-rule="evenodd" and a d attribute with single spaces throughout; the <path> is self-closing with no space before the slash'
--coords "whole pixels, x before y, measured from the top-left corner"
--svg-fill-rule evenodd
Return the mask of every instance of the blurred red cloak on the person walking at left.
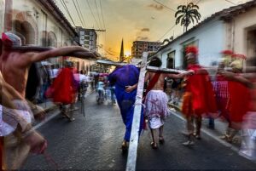
<path id="1" fill-rule="evenodd" d="M 76 92 L 73 69 L 63 68 L 50 88 L 53 89 L 52 98 L 54 102 L 73 103 Z"/>

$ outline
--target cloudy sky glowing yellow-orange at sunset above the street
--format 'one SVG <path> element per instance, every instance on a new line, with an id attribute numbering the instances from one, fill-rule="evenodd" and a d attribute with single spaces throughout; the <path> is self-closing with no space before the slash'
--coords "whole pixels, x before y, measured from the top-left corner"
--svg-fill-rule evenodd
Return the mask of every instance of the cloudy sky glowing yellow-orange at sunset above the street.
<path id="1" fill-rule="evenodd" d="M 64 3 L 63 3 L 64 1 Z M 178 5 L 197 3 L 201 20 L 211 14 L 249 0 L 55 0 L 71 24 L 106 30 L 98 32 L 102 53 L 117 59 L 124 38 L 125 54 L 131 54 L 132 42 L 163 41 L 183 33 L 183 27 L 175 26 Z M 81 12 L 81 20 L 78 12 Z M 67 6 L 73 21 L 64 9 Z M 73 24 L 74 22 L 74 24 Z"/>

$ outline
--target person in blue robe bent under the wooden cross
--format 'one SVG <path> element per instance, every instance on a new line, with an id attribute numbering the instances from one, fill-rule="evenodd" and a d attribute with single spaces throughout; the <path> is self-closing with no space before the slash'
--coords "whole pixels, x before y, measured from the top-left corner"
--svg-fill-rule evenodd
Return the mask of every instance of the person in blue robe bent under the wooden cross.
<path id="1" fill-rule="evenodd" d="M 134 112 L 134 104 L 137 94 L 139 69 L 136 66 L 127 65 L 116 68 L 109 74 L 109 82 L 115 86 L 115 95 L 123 122 L 125 123 L 125 137 L 122 150 L 126 151 L 131 137 L 131 125 Z M 141 125 L 143 123 L 143 114 Z"/>

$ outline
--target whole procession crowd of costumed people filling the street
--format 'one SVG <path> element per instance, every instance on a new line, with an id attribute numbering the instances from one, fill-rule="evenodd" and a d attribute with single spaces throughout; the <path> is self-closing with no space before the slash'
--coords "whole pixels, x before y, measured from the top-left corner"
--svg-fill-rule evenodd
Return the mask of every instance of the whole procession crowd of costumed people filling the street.
<path id="1" fill-rule="evenodd" d="M 125 124 L 121 148 L 127 151 L 137 98 L 138 67 L 117 66 L 111 73 L 87 76 L 84 71 L 77 71 L 69 60 L 62 68 L 44 62 L 36 63 L 73 52 L 87 52 L 84 48 L 73 46 L 44 52 L 15 51 L 12 47 L 21 46 L 21 41 L 11 32 L 3 33 L 0 45 L 0 157 L 3 157 L 0 161 L 3 161 L 1 165 L 4 169 L 20 168 L 29 152 L 44 154 L 47 148 L 47 140 L 32 129 L 33 119 L 42 120 L 45 116 L 44 110 L 34 103 L 50 98 L 60 106 L 62 117 L 73 121 L 72 111 L 78 109 L 75 103 L 85 97 L 89 84 L 90 88 L 96 89 L 97 104 L 107 97 L 113 104 L 117 101 Z M 255 58 L 248 60 L 246 66 L 244 55 L 224 50 L 218 68 L 205 68 L 198 62 L 199 52 L 196 47 L 186 48 L 185 53 L 188 64 L 186 72 L 147 71 L 143 96 L 145 107 L 141 111 L 139 133 L 148 125 L 153 149 L 165 142 L 164 124 L 170 114 L 167 105 L 170 98 L 165 90 L 169 82 L 173 92 L 172 103 L 177 104 L 182 99 L 181 111 L 186 118 L 188 137 L 183 145 L 194 145 L 195 139 L 201 139 L 203 117 L 222 118 L 228 123 L 228 128 L 220 138 L 232 143 L 240 131 L 240 154 L 256 160 Z M 154 57 L 148 65 L 160 67 L 161 60 Z M 210 69 L 216 73 L 213 78 L 209 75 Z M 41 77 L 35 77 L 36 71 Z"/>

